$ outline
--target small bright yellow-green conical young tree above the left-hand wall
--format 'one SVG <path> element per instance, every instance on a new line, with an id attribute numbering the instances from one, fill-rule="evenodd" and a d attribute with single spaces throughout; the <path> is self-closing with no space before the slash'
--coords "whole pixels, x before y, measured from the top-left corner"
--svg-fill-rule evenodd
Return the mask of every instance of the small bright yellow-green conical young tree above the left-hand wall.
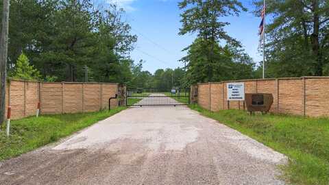
<path id="1" fill-rule="evenodd" d="M 10 73 L 10 77 L 13 79 L 39 80 L 41 75 L 38 69 L 34 69 L 34 66 L 29 64 L 29 59 L 22 53 L 16 62 L 14 71 Z"/>

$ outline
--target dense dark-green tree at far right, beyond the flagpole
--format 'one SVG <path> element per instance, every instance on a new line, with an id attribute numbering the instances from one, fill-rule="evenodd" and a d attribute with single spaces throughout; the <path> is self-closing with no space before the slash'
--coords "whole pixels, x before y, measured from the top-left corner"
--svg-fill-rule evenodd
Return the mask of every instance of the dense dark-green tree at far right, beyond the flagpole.
<path id="1" fill-rule="evenodd" d="M 256 1 L 256 15 L 263 1 Z M 328 75 L 329 2 L 267 1 L 267 73 L 270 77 Z M 326 74 L 327 73 L 327 74 Z"/>

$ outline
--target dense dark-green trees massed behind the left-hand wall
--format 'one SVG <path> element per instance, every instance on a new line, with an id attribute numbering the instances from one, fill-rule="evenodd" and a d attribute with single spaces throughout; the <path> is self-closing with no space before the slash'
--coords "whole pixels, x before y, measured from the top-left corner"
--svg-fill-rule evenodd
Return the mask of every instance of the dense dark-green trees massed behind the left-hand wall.
<path id="1" fill-rule="evenodd" d="M 128 82 L 129 53 L 137 37 L 116 5 L 95 8 L 92 0 L 12 1 L 8 70 L 24 52 L 42 78 L 83 82 Z"/>

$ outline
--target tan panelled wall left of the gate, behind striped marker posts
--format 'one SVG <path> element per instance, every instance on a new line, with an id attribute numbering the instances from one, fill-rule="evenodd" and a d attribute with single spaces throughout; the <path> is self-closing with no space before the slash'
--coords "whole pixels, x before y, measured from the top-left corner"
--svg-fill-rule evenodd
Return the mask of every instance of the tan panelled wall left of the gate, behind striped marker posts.
<path id="1" fill-rule="evenodd" d="M 10 80 L 6 89 L 6 110 L 12 107 L 12 119 L 36 114 L 95 112 L 108 109 L 108 99 L 118 93 L 119 84 L 109 83 L 46 83 Z M 112 99 L 111 107 L 118 106 Z"/>

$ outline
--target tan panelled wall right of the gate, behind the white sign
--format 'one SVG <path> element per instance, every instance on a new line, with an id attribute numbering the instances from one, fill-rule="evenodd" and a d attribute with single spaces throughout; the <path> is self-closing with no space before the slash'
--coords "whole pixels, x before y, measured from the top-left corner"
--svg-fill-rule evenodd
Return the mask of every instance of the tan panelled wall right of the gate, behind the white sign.
<path id="1" fill-rule="evenodd" d="M 245 93 L 271 93 L 270 112 L 305 116 L 329 116 L 329 77 L 247 79 Z M 227 101 L 228 82 L 197 84 L 197 103 L 211 111 L 245 109 L 244 101 Z"/>

